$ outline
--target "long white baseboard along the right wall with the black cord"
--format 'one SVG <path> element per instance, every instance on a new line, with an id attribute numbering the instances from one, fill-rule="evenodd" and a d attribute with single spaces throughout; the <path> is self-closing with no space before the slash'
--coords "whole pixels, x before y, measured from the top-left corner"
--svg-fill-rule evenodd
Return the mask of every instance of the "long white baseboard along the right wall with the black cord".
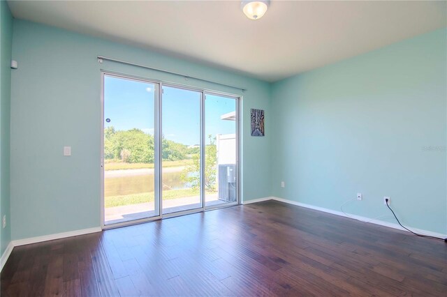
<path id="1" fill-rule="evenodd" d="M 319 207 L 319 206 L 313 206 L 310 204 L 304 204 L 301 202 L 297 202 L 297 201 L 293 201 L 293 200 L 288 200 L 288 199 L 283 199 L 283 198 L 279 198 L 279 197 L 272 197 L 273 200 L 276 201 L 281 201 L 287 204 L 293 204 L 296 206 L 302 206 L 305 208 L 310 208 L 310 209 L 314 209 L 316 211 L 323 211 L 324 213 L 332 213 L 332 215 L 340 215 L 342 217 L 345 218 L 353 218 L 356 220 L 360 220 L 360 221 L 371 221 L 372 218 L 366 218 L 366 217 L 362 217 L 360 215 L 352 215 L 351 213 L 349 213 L 348 215 L 342 213 L 341 211 L 333 211 L 332 209 L 329 208 L 323 208 L 323 207 Z M 393 229 L 399 229 L 402 231 L 407 231 L 406 229 L 402 228 L 399 224 L 395 224 L 395 223 L 390 223 L 390 222 L 386 222 L 386 221 L 382 221 L 382 220 L 372 220 L 370 222 L 371 224 L 379 224 L 381 226 L 385 226 L 385 227 L 390 227 Z M 428 230 L 423 230 L 423 229 L 417 229 L 417 228 L 413 228 L 413 227 L 409 227 L 412 231 L 418 233 L 418 234 L 422 234 L 422 235 L 428 235 L 428 236 L 434 236 L 434 237 L 441 237 L 441 238 L 446 238 L 447 234 L 441 234 L 441 233 L 437 233 L 437 232 L 433 232 L 433 231 L 428 231 Z"/>

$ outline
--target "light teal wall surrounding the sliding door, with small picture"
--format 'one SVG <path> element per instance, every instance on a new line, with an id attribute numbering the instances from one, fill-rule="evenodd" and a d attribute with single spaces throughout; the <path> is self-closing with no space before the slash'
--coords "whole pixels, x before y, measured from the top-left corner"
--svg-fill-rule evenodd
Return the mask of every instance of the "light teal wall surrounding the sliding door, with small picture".
<path id="1" fill-rule="evenodd" d="M 245 200 L 270 195 L 270 119 L 266 137 L 249 136 L 250 108 L 270 109 L 270 84 L 78 33 L 14 21 L 11 102 L 11 215 L 13 239 L 100 225 L 100 69 L 200 86 L 243 96 Z M 223 84 L 186 81 L 143 68 L 105 61 L 132 61 Z M 70 158 L 63 146 L 72 146 Z"/>

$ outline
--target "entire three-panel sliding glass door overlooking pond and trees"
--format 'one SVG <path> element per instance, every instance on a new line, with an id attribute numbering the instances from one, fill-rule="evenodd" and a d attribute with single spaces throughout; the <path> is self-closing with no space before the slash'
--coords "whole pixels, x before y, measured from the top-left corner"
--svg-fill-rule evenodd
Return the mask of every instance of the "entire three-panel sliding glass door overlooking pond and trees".
<path id="1" fill-rule="evenodd" d="M 239 98 L 105 73 L 102 98 L 104 226 L 238 203 Z"/>

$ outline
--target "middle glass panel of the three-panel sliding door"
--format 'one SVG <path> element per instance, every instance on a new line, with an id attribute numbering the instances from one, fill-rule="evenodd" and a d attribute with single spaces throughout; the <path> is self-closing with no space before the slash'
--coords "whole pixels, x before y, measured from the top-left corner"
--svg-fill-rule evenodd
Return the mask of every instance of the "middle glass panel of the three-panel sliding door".
<path id="1" fill-rule="evenodd" d="M 163 214 L 202 208 L 200 199 L 202 93 L 163 86 L 161 98 Z"/>

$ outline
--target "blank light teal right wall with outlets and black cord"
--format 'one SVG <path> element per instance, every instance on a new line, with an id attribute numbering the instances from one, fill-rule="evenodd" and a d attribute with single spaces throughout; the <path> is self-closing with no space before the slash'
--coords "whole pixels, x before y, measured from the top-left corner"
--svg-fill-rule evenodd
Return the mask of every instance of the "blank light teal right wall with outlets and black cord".
<path id="1" fill-rule="evenodd" d="M 344 208 L 367 218 L 390 215 L 390 196 L 406 226 L 447 234 L 446 35 L 432 31 L 274 84 L 272 194 L 340 211 L 362 192 Z"/>

